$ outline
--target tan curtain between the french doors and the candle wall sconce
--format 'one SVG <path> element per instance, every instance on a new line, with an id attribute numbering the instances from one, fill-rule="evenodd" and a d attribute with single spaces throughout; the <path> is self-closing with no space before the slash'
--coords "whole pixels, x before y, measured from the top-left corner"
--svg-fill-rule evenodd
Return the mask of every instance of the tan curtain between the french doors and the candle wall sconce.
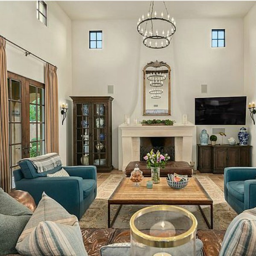
<path id="1" fill-rule="evenodd" d="M 45 72 L 45 141 L 46 152 L 59 153 L 57 68 L 46 65 Z"/>

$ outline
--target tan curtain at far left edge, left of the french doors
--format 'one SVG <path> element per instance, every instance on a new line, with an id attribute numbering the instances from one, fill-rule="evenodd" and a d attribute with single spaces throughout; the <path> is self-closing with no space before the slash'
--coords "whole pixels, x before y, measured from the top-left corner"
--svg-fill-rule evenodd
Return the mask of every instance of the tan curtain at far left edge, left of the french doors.
<path id="1" fill-rule="evenodd" d="M 0 186 L 9 193 L 9 102 L 7 89 L 6 40 L 0 38 Z"/>

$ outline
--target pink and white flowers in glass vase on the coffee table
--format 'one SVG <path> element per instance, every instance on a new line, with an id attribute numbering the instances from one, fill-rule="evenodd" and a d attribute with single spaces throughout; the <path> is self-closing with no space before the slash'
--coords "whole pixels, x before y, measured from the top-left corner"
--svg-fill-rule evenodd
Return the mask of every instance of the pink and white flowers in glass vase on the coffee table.
<path id="1" fill-rule="evenodd" d="M 150 153 L 143 157 L 147 161 L 147 168 L 151 168 L 151 180 L 153 183 L 160 182 L 160 168 L 164 168 L 167 161 L 170 159 L 168 154 L 160 154 L 159 150 L 154 153 L 152 149 Z"/>

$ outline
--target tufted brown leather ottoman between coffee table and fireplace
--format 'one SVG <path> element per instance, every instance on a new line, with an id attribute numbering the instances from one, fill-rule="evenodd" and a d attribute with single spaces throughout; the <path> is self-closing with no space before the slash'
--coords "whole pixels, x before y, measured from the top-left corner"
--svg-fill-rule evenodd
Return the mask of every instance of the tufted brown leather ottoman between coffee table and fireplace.
<path id="1" fill-rule="evenodd" d="M 147 163 L 146 161 L 133 161 L 128 163 L 128 166 L 125 168 L 125 174 L 126 176 L 131 175 L 131 171 L 135 168 L 135 164 L 138 164 L 141 171 L 143 171 L 143 176 L 150 177 L 151 176 L 151 170 L 147 169 Z M 183 161 L 170 161 L 167 162 L 165 169 L 160 169 L 160 176 L 161 177 L 167 177 L 167 175 L 171 173 L 177 173 L 180 175 L 188 175 L 189 177 L 193 174 L 193 169 L 187 162 Z"/>

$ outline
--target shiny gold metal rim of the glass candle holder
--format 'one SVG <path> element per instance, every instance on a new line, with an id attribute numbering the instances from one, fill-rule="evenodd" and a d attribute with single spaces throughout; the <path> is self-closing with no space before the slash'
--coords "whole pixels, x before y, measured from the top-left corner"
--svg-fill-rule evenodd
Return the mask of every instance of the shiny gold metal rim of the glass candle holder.
<path id="1" fill-rule="evenodd" d="M 141 232 L 140 230 L 135 227 L 134 221 L 136 218 L 144 215 L 148 212 L 154 211 L 169 211 L 172 210 L 174 212 L 180 212 L 183 215 L 189 217 L 192 220 L 192 226 L 187 230 L 185 233 L 178 235 L 178 236 L 171 236 L 171 237 L 156 237 L 156 236 L 149 236 Z M 177 247 L 187 242 L 195 239 L 195 233 L 198 226 L 198 222 L 195 216 L 186 209 L 181 207 L 173 206 L 173 205 L 154 205 L 145 207 L 132 215 L 130 219 L 130 228 L 131 228 L 131 236 L 138 242 L 151 246 L 151 247 Z"/>

